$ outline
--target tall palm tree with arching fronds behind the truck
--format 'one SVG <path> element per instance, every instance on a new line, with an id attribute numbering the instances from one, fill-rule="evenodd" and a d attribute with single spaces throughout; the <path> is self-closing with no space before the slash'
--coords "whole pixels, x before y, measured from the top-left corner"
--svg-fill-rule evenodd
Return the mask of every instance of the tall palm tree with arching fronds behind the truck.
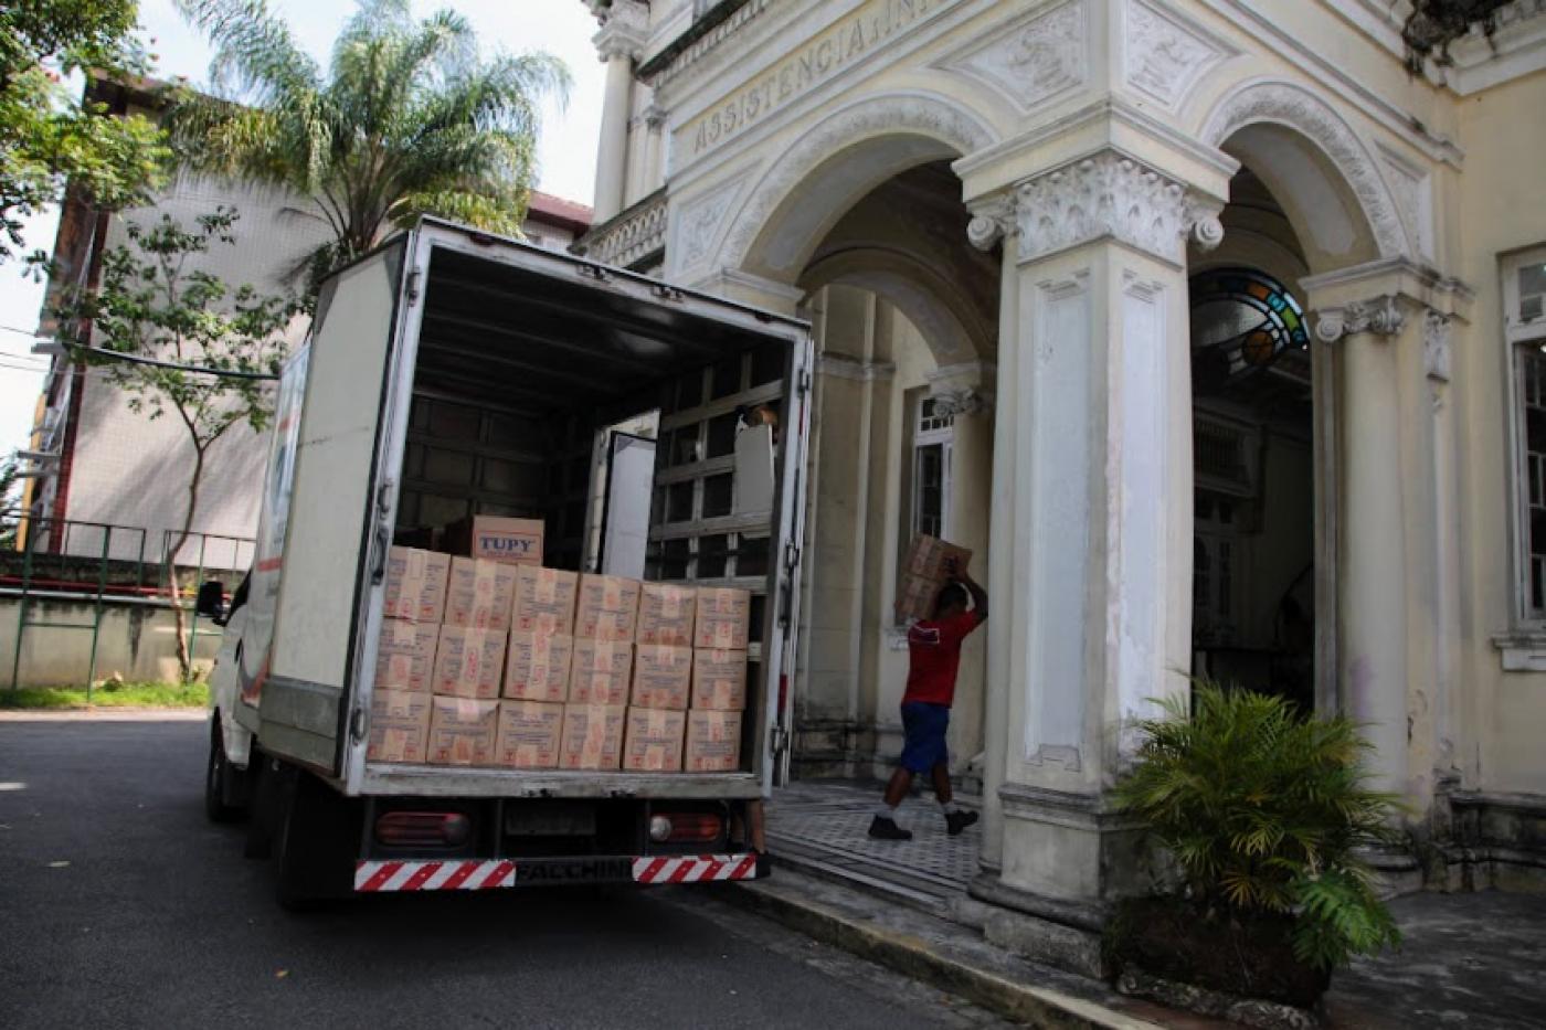
<path id="1" fill-rule="evenodd" d="M 266 0 L 176 5 L 215 46 L 216 96 L 175 101 L 184 161 L 306 198 L 301 213 L 332 234 L 294 269 L 312 286 L 419 215 L 519 234 L 540 102 L 567 96 L 563 62 L 485 60 L 453 11 L 416 22 L 408 0 L 359 0 L 325 76 Z"/>

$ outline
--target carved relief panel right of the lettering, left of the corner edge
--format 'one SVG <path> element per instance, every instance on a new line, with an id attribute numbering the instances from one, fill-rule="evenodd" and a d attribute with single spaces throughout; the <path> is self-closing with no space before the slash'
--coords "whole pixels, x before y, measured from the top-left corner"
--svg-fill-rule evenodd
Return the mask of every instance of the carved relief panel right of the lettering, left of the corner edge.
<path id="1" fill-rule="evenodd" d="M 996 31 L 986 43 L 974 45 L 942 67 L 988 84 L 1017 110 L 1028 111 L 1084 84 L 1088 65 L 1085 26 L 1082 0 L 1067 0 Z"/>

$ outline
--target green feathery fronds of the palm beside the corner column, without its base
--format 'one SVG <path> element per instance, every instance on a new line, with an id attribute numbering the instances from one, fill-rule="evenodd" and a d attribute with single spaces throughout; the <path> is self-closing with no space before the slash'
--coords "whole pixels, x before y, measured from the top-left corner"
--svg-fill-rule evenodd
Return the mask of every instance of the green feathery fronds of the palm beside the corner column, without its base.
<path id="1" fill-rule="evenodd" d="M 1365 786 L 1370 745 L 1343 718 L 1198 682 L 1139 724 L 1119 803 L 1149 823 L 1203 911 L 1296 916 L 1294 951 L 1331 968 L 1399 942 L 1354 851 L 1390 843 L 1394 800 Z"/>

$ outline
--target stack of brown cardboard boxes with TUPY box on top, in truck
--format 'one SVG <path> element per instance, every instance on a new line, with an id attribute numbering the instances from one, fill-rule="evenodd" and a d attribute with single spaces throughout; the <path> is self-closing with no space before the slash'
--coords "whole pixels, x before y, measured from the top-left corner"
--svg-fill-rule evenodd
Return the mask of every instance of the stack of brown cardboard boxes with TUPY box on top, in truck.
<path id="1" fill-rule="evenodd" d="M 527 520 L 458 537 L 489 557 L 393 547 L 373 761 L 741 767 L 750 592 L 547 569 Z"/>

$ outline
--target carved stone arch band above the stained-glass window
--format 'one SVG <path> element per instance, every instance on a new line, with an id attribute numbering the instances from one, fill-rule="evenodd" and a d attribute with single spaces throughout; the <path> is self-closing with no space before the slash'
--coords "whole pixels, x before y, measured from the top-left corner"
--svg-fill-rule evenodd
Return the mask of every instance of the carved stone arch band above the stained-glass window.
<path id="1" fill-rule="evenodd" d="M 1308 88 L 1283 79 L 1243 82 L 1214 105 L 1198 136 L 1203 142 L 1229 148 L 1234 156 L 1252 164 L 1257 175 L 1282 196 L 1285 206 L 1299 200 L 1302 212 L 1316 210 L 1316 204 L 1309 203 L 1306 195 L 1314 189 L 1330 187 L 1345 195 L 1362 221 L 1356 229 L 1360 235 L 1367 235 L 1367 249 L 1373 251 L 1362 257 L 1391 258 L 1408 254 L 1410 246 L 1396 203 L 1381 178 L 1377 162 L 1347 121 Z M 1319 155 L 1328 181 L 1317 182 L 1316 176 L 1272 181 L 1269 167 L 1272 162 L 1262 152 L 1283 142 Z M 1303 221 L 1303 230 L 1313 240 L 1328 243 L 1326 234 L 1319 230 L 1314 220 Z M 1323 249 L 1336 251 L 1336 247 Z"/>

